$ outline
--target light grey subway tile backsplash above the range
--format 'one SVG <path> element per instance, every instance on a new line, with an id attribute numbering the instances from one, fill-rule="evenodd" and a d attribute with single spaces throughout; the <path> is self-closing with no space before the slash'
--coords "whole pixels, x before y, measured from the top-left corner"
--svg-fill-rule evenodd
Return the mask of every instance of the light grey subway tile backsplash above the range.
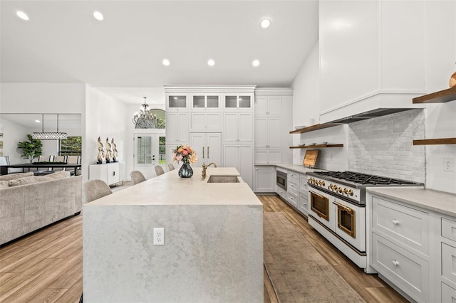
<path id="1" fill-rule="evenodd" d="M 425 182 L 425 112 L 408 110 L 348 124 L 348 169 Z"/>

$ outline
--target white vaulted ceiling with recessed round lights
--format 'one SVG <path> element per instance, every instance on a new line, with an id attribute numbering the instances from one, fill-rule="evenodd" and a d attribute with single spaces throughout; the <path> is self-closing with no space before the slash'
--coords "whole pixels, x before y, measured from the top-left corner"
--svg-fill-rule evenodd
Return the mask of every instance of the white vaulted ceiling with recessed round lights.
<path id="1" fill-rule="evenodd" d="M 0 5 L 3 83 L 81 82 L 115 91 L 170 84 L 289 87 L 318 39 L 318 1 Z M 93 18 L 94 11 L 104 20 Z M 262 18 L 271 20 L 269 28 L 259 26 Z"/>

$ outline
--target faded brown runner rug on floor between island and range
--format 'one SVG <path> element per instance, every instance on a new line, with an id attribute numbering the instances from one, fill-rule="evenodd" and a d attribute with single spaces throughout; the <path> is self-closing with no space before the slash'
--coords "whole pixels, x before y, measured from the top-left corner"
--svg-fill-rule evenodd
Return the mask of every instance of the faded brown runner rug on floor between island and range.
<path id="1" fill-rule="evenodd" d="M 279 302 L 365 302 L 282 213 L 264 213 L 264 265 Z"/>

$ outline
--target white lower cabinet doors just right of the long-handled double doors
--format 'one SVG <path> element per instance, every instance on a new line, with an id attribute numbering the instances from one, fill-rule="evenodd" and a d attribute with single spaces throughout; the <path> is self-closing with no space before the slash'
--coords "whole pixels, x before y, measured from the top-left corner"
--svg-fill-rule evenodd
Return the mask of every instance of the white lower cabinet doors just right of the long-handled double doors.
<path id="1" fill-rule="evenodd" d="M 223 166 L 235 167 L 241 174 L 244 182 L 253 186 L 253 146 L 252 144 L 224 144 L 223 147 Z"/>

